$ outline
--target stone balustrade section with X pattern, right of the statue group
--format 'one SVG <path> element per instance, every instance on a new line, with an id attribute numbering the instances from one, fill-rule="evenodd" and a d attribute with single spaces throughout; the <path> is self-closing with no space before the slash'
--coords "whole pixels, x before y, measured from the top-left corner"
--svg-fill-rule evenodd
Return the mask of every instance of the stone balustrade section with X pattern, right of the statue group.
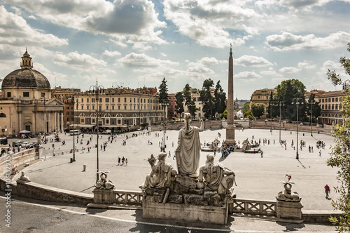
<path id="1" fill-rule="evenodd" d="M 232 212 L 255 215 L 275 215 L 276 201 L 233 199 Z"/>

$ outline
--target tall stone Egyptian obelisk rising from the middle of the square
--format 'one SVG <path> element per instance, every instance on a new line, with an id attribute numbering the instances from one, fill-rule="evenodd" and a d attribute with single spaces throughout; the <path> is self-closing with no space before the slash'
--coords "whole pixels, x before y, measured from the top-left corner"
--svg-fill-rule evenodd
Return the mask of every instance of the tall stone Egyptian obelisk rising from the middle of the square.
<path id="1" fill-rule="evenodd" d="M 235 140 L 235 123 L 233 109 L 233 58 L 232 45 L 230 45 L 230 58 L 228 58 L 228 126 L 226 126 L 226 143 L 236 143 Z"/>

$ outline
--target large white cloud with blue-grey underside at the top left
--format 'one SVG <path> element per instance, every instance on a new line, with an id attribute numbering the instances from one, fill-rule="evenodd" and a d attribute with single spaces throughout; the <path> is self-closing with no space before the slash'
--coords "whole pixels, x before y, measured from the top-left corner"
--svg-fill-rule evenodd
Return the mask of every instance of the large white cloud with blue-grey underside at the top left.
<path id="1" fill-rule="evenodd" d="M 158 20 L 154 4 L 149 0 L 13 0 L 27 11 L 55 25 L 71 27 L 93 34 L 129 36 L 134 44 L 166 44 L 160 39 L 165 22 Z M 120 41 L 120 40 L 118 40 Z"/>

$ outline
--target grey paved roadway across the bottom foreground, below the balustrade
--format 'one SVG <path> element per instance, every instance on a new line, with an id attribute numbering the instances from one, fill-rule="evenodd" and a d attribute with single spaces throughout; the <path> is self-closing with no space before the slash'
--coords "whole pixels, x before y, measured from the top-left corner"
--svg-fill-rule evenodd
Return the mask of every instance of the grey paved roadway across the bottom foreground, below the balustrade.
<path id="1" fill-rule="evenodd" d="M 137 210 L 91 209 L 23 198 L 12 199 L 10 210 L 11 227 L 2 223 L 0 232 L 335 232 L 331 225 L 283 223 L 241 215 L 230 216 L 228 226 L 145 220 Z M 4 211 L 1 205 L 0 213 Z"/>

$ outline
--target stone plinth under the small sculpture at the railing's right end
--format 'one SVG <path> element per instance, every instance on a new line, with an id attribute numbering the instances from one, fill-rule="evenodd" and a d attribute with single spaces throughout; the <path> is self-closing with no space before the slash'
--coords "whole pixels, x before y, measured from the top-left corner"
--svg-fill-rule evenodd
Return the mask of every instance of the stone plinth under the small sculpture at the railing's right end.
<path id="1" fill-rule="evenodd" d="M 301 220 L 302 219 L 301 201 L 279 201 L 276 203 L 276 217 Z"/>

